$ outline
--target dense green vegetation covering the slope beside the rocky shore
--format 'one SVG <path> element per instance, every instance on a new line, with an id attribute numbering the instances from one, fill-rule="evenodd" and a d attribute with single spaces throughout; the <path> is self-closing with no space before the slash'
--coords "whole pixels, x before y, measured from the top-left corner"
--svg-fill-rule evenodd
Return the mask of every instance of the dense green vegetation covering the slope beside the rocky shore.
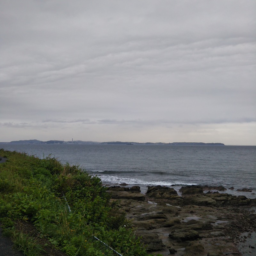
<path id="1" fill-rule="evenodd" d="M 8 158 L 0 164 L 0 222 L 25 255 L 52 247 L 68 256 L 115 255 L 93 236 L 124 256 L 148 255 L 98 177 L 51 156 L 4 149 L 0 156 Z"/>

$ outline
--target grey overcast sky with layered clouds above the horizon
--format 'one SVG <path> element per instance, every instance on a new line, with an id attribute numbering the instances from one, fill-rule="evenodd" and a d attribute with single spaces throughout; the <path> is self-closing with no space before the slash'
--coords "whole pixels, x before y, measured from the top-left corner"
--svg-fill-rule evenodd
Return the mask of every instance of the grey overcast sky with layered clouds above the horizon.
<path id="1" fill-rule="evenodd" d="M 256 145 L 256 1 L 0 1 L 0 141 Z"/>

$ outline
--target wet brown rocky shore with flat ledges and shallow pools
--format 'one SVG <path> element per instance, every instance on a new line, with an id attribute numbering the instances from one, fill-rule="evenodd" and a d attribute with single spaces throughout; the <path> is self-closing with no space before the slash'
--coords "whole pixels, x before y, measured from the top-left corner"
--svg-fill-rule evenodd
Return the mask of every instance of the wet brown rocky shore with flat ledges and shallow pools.
<path id="1" fill-rule="evenodd" d="M 192 185 L 180 188 L 178 195 L 174 188 L 152 186 L 144 195 L 138 186 L 108 188 L 150 253 L 256 255 L 256 199 L 223 190 Z"/>

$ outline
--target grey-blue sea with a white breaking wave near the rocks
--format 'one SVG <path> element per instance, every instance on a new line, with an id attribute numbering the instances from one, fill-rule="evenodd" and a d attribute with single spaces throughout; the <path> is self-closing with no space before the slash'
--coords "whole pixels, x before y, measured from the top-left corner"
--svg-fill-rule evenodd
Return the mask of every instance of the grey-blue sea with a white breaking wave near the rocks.
<path id="1" fill-rule="evenodd" d="M 224 186 L 225 193 L 256 198 L 256 146 L 1 144 L 0 148 L 79 165 L 104 184 Z M 229 189 L 234 187 L 233 190 Z M 237 189 L 250 188 L 252 192 Z"/>

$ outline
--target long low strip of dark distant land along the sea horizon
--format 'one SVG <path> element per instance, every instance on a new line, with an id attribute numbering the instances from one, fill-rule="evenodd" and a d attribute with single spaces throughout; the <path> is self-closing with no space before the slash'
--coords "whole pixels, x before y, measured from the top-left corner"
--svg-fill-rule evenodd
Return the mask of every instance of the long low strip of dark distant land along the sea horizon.
<path id="1" fill-rule="evenodd" d="M 172 143 L 164 143 L 164 142 L 122 142 L 122 141 L 108 141 L 108 142 L 96 142 L 96 141 L 82 141 L 82 140 L 14 140 L 11 142 L 0 142 L 0 144 L 86 144 L 86 145 L 189 145 L 189 146 L 225 146 L 223 143 L 204 143 L 204 142 L 172 142 Z"/>

